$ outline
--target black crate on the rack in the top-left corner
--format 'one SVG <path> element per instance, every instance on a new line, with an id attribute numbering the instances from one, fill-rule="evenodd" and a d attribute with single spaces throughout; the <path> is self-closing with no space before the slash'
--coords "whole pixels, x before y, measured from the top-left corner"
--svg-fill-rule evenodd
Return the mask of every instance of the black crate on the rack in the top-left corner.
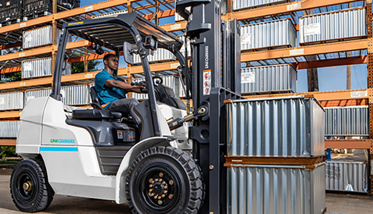
<path id="1" fill-rule="evenodd" d="M 0 25 L 10 25 L 22 20 L 22 0 L 0 1 Z M 0 26 L 0 27 L 1 27 Z"/>

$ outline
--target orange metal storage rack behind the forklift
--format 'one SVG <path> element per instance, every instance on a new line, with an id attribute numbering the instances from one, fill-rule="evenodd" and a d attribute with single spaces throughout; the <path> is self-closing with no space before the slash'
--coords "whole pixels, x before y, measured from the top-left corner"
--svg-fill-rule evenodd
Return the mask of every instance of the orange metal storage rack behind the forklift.
<path id="1" fill-rule="evenodd" d="M 20 35 L 23 30 L 30 30 L 36 27 L 51 25 L 53 27 L 53 41 L 56 41 L 57 28 L 64 22 L 72 20 L 79 21 L 89 19 L 92 16 L 108 12 L 117 12 L 127 10 L 128 12 L 137 11 L 149 20 L 155 20 L 158 24 L 160 18 L 174 16 L 175 0 L 109 0 L 80 8 L 71 9 L 57 13 L 56 0 L 53 2 L 53 14 L 48 16 L 31 19 L 26 22 L 16 23 L 0 28 L 0 51 L 20 47 L 22 41 Z M 222 19 L 230 21 L 237 19 L 244 24 L 257 21 L 268 21 L 268 17 L 290 18 L 297 23 L 298 16 L 296 12 L 304 10 L 317 10 L 327 12 L 328 8 L 342 9 L 342 5 L 354 2 L 363 2 L 362 7 L 367 9 L 367 36 L 365 38 L 323 43 L 317 45 L 307 45 L 294 48 L 282 48 L 275 50 L 264 50 L 257 52 L 246 52 L 241 54 L 241 62 L 250 63 L 251 65 L 270 65 L 291 63 L 295 69 L 319 68 L 339 65 L 352 65 L 366 63 L 368 67 L 368 89 L 345 90 L 332 92 L 308 92 L 296 93 L 299 95 L 314 95 L 324 107 L 337 106 L 360 106 L 369 105 L 370 118 L 370 136 L 369 139 L 363 140 L 326 140 L 325 148 L 345 148 L 345 149 L 366 149 L 370 151 L 369 169 L 373 165 L 373 30 L 372 30 L 372 0 L 300 0 L 288 3 L 263 6 L 258 8 L 242 9 L 233 11 L 233 0 L 228 0 L 227 13 L 222 15 Z M 186 21 L 161 26 L 164 30 L 180 35 L 186 28 Z M 299 24 L 295 24 L 299 30 Z M 22 36 L 21 36 L 22 37 Z M 89 55 L 77 55 L 69 62 L 90 61 L 102 59 L 103 55 L 96 55 L 89 52 L 86 47 L 89 42 L 80 40 L 70 42 L 66 49 L 80 50 L 91 53 Z M 52 57 L 53 64 L 56 59 L 56 43 L 25 50 L 17 53 L 0 56 L 0 73 L 9 73 L 21 71 L 21 60 L 34 59 L 40 57 Z M 348 57 L 347 57 L 347 54 Z M 308 61 L 306 57 L 313 56 L 317 61 Z M 345 57 L 344 57 L 345 56 Z M 5 66 L 2 66 L 6 61 Z M 10 61 L 10 62 L 9 62 Z M 155 63 L 150 65 L 153 72 L 160 72 L 162 75 L 175 74 L 178 63 L 175 61 Z M 99 71 L 85 72 L 79 74 L 62 76 L 62 83 L 67 85 L 86 84 L 93 82 L 95 75 Z M 125 75 L 128 79 L 142 73 L 141 66 L 129 66 L 119 68 L 118 75 Z M 52 84 L 52 77 L 43 77 L 31 80 L 22 80 L 12 83 L 1 83 L 0 92 L 26 91 L 29 89 L 46 88 Z M 284 94 L 275 95 L 257 95 L 248 96 L 248 98 L 284 96 Z M 21 111 L 0 112 L 0 120 L 19 120 Z M 0 139 L 0 145 L 15 145 L 15 139 Z M 370 193 L 373 190 L 373 175 L 370 175 Z"/>

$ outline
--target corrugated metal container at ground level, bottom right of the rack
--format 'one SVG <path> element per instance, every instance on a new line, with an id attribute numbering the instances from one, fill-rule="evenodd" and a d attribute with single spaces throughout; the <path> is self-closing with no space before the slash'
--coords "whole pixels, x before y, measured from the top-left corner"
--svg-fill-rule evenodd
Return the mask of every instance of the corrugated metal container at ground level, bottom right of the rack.
<path id="1" fill-rule="evenodd" d="M 365 162 L 328 161 L 325 168 L 326 190 L 367 192 L 367 167 Z"/>

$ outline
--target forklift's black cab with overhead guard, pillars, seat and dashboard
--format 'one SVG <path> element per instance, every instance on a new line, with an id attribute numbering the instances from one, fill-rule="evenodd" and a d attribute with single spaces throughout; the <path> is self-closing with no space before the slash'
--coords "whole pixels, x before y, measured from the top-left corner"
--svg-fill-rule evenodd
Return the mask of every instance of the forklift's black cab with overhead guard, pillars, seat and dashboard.
<path id="1" fill-rule="evenodd" d="M 167 49 L 175 55 L 180 63 L 179 68 L 182 70 L 183 74 L 185 74 L 188 68 L 184 57 L 179 51 L 183 45 L 182 41 L 178 40 L 171 33 L 145 20 L 137 13 L 120 14 L 115 17 L 64 24 L 59 39 L 51 94 L 52 98 L 61 100 L 60 85 L 61 73 L 63 70 L 63 61 L 61 59 L 64 58 L 67 40 L 71 34 L 89 41 L 91 47 L 94 46 L 98 54 L 104 54 L 105 51 L 114 51 L 118 58 L 122 54 L 124 60 L 131 65 L 133 64 L 133 55 L 140 55 L 143 74 L 146 80 L 146 85 L 144 86 L 146 87 L 148 99 L 134 108 L 135 112 L 142 120 L 143 130 L 146 130 L 145 132 L 143 131 L 143 133 L 137 133 L 137 127 L 134 125 L 131 118 L 124 118 L 119 112 L 104 110 L 100 106 L 100 100 L 94 88 L 90 88 L 93 101 L 91 105 L 93 109 L 73 110 L 71 119 L 66 120 L 66 123 L 85 127 L 91 132 L 97 130 L 98 127 L 90 127 L 96 122 L 100 122 L 97 126 L 102 126 L 102 122 L 108 123 L 108 126 L 111 126 L 109 123 L 124 123 L 128 126 L 128 130 L 130 130 L 129 135 L 134 135 L 133 132 L 137 133 L 134 142 L 139 142 L 148 137 L 161 136 L 159 118 L 157 117 L 157 111 L 159 111 L 159 109 L 157 109 L 157 103 L 171 106 L 173 111 L 176 111 L 175 109 L 181 111 L 186 110 L 185 104 L 178 97 L 175 97 L 173 90 L 162 85 L 162 79 L 160 77 L 152 76 L 147 60 L 147 56 L 152 54 L 153 51 L 156 51 L 157 48 Z M 178 116 L 185 116 L 185 114 L 179 114 Z M 125 129 L 126 130 L 122 131 L 128 131 L 127 128 Z M 119 131 L 120 129 L 115 130 Z M 112 132 L 115 130 L 112 130 Z M 100 133 L 102 134 L 103 132 L 101 131 Z M 110 133 L 106 134 L 110 135 Z M 104 139 L 102 137 L 98 138 Z M 108 141 L 107 138 L 105 138 L 105 140 L 101 141 L 95 139 L 95 144 L 116 145 L 117 143 L 115 143 L 115 139 Z"/>

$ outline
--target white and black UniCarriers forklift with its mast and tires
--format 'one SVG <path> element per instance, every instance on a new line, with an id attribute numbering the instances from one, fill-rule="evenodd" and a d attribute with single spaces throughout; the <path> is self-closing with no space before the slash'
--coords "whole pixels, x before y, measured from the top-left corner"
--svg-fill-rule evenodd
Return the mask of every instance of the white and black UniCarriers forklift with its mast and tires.
<path id="1" fill-rule="evenodd" d="M 179 0 L 176 11 L 189 20 L 192 59 L 183 41 L 137 13 L 65 23 L 49 97 L 29 100 L 21 115 L 10 192 L 22 212 L 45 210 L 54 194 L 128 203 L 133 214 L 226 213 L 227 154 L 224 100 L 241 99 L 240 26 L 222 22 L 220 1 Z M 190 11 L 190 12 L 189 12 Z M 70 35 L 95 44 L 96 53 L 115 51 L 133 64 L 141 57 L 148 99 L 131 118 L 104 110 L 94 87 L 92 109 L 63 105 L 61 74 Z M 190 106 L 153 76 L 147 56 L 158 48 L 180 63 Z M 187 50 L 187 48 L 185 49 Z M 185 54 L 185 56 L 188 56 Z"/>

